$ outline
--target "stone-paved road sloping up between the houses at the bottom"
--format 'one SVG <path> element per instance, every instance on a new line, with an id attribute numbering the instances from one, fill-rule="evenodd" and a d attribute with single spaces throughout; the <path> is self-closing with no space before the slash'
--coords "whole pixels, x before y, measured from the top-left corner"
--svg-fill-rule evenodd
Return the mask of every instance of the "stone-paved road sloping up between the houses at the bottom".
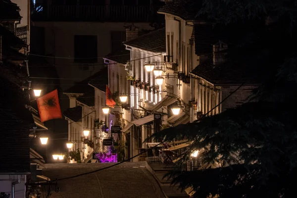
<path id="1" fill-rule="evenodd" d="M 51 180 L 74 176 L 111 163 L 47 164 L 44 175 Z M 58 181 L 58 193 L 50 198 L 164 198 L 151 173 L 141 162 L 125 162 L 96 173 Z"/>

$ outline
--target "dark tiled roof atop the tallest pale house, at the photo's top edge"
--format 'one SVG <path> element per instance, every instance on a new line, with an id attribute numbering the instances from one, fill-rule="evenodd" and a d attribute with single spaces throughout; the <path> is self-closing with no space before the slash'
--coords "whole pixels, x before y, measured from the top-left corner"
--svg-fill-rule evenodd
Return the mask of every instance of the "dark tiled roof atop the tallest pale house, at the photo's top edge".
<path id="1" fill-rule="evenodd" d="M 200 7 L 202 0 L 172 0 L 163 5 L 158 12 L 168 13 L 184 20 L 195 19 Z"/>

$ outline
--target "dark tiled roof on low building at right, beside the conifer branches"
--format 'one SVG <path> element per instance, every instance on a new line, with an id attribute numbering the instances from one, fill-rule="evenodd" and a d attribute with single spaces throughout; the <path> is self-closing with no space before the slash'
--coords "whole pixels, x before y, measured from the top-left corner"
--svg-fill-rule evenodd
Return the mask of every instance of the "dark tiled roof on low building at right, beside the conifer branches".
<path id="1" fill-rule="evenodd" d="M 191 73 L 213 84 L 259 83 L 255 71 L 227 62 L 214 65 L 210 58 L 200 63 Z"/>

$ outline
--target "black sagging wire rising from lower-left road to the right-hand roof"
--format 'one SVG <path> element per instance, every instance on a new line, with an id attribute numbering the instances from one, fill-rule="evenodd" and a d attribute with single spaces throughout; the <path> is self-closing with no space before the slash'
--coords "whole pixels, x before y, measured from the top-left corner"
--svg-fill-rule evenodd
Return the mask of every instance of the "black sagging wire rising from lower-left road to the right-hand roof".
<path id="1" fill-rule="evenodd" d="M 223 99 L 222 101 L 220 101 L 220 103 L 217 104 L 215 107 L 217 107 L 217 106 L 219 106 L 220 104 L 222 104 L 226 99 L 228 99 L 230 96 L 232 96 L 232 95 L 233 95 L 237 90 L 239 90 L 243 85 L 244 85 L 244 83 L 241 84 L 241 85 L 240 85 L 236 90 L 234 90 L 232 93 L 230 93 L 225 99 Z M 207 113 L 205 113 L 201 118 L 203 118 L 203 117 L 206 116 L 208 113 L 210 113 L 215 107 L 213 107 L 210 111 L 208 111 Z M 201 119 L 201 118 L 200 118 L 200 119 Z M 157 145 L 155 145 L 154 147 L 151 147 L 151 148 L 156 148 L 157 146 L 163 144 L 164 142 L 165 142 L 165 141 L 163 141 L 163 142 L 161 142 L 161 143 L 159 143 L 159 144 L 157 144 Z M 139 154 L 134 155 L 133 157 L 131 157 L 131 158 L 129 158 L 129 159 L 126 159 L 126 160 L 121 161 L 121 162 L 119 162 L 119 163 L 113 164 L 113 165 L 111 165 L 111 166 L 107 166 L 107 167 L 104 167 L 104 168 L 100 168 L 100 169 L 98 169 L 98 170 L 94 170 L 94 171 L 87 172 L 87 173 L 82 173 L 82 174 L 75 175 L 75 176 L 71 176 L 71 177 L 65 177 L 65 178 L 57 179 L 56 181 L 62 181 L 62 180 L 67 180 L 67 179 L 76 178 L 76 177 L 83 176 L 83 175 L 88 175 L 88 174 L 96 173 L 96 172 L 99 172 L 99 171 L 101 171 L 101 170 L 105 170 L 105 169 L 111 168 L 111 167 L 113 167 L 113 166 L 122 164 L 122 163 L 124 163 L 124 162 L 126 162 L 126 161 L 129 161 L 129 160 L 131 160 L 131 159 L 133 159 L 133 158 L 135 158 L 135 157 L 137 157 L 137 156 L 139 156 L 139 155 L 145 153 L 145 152 L 148 152 L 148 149 L 147 149 L 147 150 L 144 150 L 144 151 L 141 151 Z"/>

